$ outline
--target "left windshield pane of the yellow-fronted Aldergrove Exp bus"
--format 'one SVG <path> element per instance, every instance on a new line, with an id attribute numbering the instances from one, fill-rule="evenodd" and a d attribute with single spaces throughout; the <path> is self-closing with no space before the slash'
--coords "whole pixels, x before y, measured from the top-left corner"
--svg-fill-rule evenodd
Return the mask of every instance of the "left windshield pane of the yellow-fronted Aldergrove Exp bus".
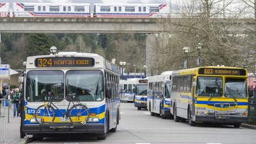
<path id="1" fill-rule="evenodd" d="M 196 95 L 222 97 L 223 96 L 223 78 L 199 76 L 197 78 Z"/>

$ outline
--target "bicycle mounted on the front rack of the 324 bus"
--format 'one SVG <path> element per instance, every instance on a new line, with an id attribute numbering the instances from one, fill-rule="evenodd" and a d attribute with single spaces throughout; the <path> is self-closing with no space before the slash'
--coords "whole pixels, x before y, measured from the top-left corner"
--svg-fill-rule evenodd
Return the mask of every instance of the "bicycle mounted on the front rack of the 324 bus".
<path id="1" fill-rule="evenodd" d="M 59 121 L 68 121 L 70 123 L 81 123 L 85 125 L 89 119 L 89 109 L 85 104 L 74 104 L 74 100 L 76 98 L 76 93 L 70 95 L 70 100 L 68 103 L 68 107 L 66 109 L 66 113 L 63 113 L 55 104 L 53 104 L 54 100 L 57 100 L 55 96 L 52 94 L 50 102 L 44 102 L 43 105 L 38 106 L 38 109 L 35 110 L 35 121 L 38 124 L 49 124 L 54 123 L 56 117 L 56 108 L 61 114 L 62 117 L 59 118 Z M 70 107 L 70 103 L 72 102 L 72 106 Z M 69 109 L 70 107 L 70 109 Z"/>

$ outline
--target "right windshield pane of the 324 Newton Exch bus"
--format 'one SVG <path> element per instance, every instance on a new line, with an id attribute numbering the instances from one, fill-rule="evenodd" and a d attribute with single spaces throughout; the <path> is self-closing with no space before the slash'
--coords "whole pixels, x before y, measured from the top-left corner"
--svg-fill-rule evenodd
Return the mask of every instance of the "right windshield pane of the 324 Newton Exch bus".
<path id="1" fill-rule="evenodd" d="M 70 70 L 66 73 L 66 93 L 76 93 L 80 101 L 104 99 L 103 74 L 100 70 Z"/>

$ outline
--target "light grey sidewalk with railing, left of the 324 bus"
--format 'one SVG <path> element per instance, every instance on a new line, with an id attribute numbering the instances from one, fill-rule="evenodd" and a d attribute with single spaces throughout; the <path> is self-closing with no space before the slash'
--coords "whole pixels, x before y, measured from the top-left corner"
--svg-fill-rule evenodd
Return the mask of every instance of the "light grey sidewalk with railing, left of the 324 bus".
<path id="1" fill-rule="evenodd" d="M 10 109 L 10 119 L 8 123 L 8 106 L 5 108 L 5 117 L 0 117 L 0 143 L 25 143 L 27 139 L 20 139 L 20 117 L 13 117 L 13 107 Z M 3 115 L 3 105 L 1 105 L 1 115 Z M 3 141 L 3 122 L 5 120 L 5 141 Z"/>

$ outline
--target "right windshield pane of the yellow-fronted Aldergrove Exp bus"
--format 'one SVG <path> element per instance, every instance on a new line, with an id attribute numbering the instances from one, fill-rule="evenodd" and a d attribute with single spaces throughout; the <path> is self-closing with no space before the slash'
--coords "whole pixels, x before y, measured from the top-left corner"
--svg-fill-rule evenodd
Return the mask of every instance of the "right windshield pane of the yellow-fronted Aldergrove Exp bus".
<path id="1" fill-rule="evenodd" d="M 227 78 L 224 96 L 226 98 L 246 98 L 246 80 Z"/>

